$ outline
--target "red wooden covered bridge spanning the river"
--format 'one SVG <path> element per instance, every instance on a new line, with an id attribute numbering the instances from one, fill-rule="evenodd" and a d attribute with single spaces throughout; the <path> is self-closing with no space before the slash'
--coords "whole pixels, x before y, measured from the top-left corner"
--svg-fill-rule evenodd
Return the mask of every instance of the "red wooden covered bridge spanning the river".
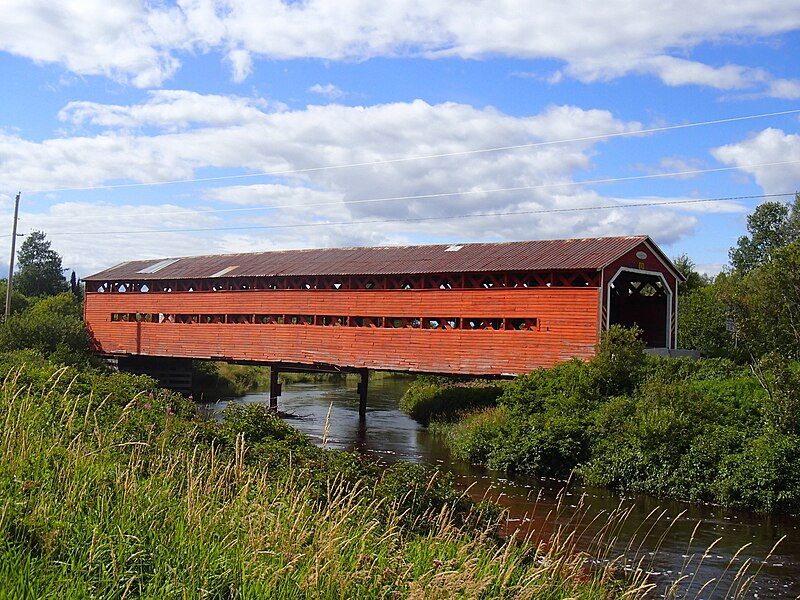
<path id="1" fill-rule="evenodd" d="M 509 376 L 614 323 L 674 348 L 680 279 L 647 236 L 196 256 L 87 277 L 85 319 L 107 356 Z"/>

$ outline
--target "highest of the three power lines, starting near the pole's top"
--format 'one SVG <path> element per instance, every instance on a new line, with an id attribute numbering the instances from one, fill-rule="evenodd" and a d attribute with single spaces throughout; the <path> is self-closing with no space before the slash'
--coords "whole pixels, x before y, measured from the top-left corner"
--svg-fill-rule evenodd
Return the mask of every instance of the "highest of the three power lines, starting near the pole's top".
<path id="1" fill-rule="evenodd" d="M 119 188 L 135 188 L 135 187 L 148 187 L 148 186 L 161 186 L 161 185 L 174 185 L 174 184 L 181 184 L 181 183 L 204 183 L 204 182 L 213 182 L 213 181 L 227 181 L 232 179 L 246 179 L 252 177 L 277 177 L 281 175 L 296 175 L 302 173 L 312 173 L 317 171 L 329 171 L 335 169 L 350 169 L 356 167 L 370 167 L 370 166 L 378 166 L 378 165 L 387 165 L 387 164 L 395 164 L 395 163 L 403 163 L 403 162 L 411 162 L 416 160 L 428 160 L 433 158 L 447 158 L 453 156 L 467 156 L 467 155 L 474 155 L 474 154 L 485 154 L 490 152 L 503 152 L 509 150 L 520 150 L 524 148 L 539 148 L 542 146 L 550 146 L 554 144 L 567 144 L 572 142 L 589 142 L 589 141 L 597 141 L 597 140 L 604 140 L 604 139 L 612 139 L 617 137 L 627 137 L 627 136 L 636 136 L 636 135 L 645 135 L 648 133 L 660 133 L 664 131 L 674 131 L 677 129 L 688 129 L 690 127 L 705 127 L 709 125 L 719 125 L 723 123 L 733 123 L 736 121 L 747 121 L 753 119 L 762 119 L 767 117 L 777 117 L 783 115 L 791 115 L 800 113 L 800 109 L 792 109 L 792 110 L 783 110 L 771 113 L 760 113 L 755 115 L 743 115 L 738 117 L 726 117 L 723 119 L 713 119 L 709 121 L 696 121 L 693 123 L 681 123 L 678 125 L 665 125 L 662 127 L 650 127 L 648 129 L 638 129 L 638 130 L 630 130 L 630 131 L 619 131 L 614 133 L 604 133 L 598 135 L 589 135 L 589 136 L 582 136 L 576 138 L 566 138 L 566 139 L 558 139 L 558 140 L 548 140 L 544 142 L 531 142 L 528 144 L 515 144 L 510 146 L 497 146 L 493 148 L 479 148 L 474 150 L 460 150 L 456 152 L 443 152 L 439 154 L 422 154 L 416 156 L 405 156 L 399 158 L 390 158 L 390 159 L 382 159 L 382 160 L 374 160 L 374 161 L 365 161 L 365 162 L 354 162 L 354 163 L 345 163 L 340 165 L 327 165 L 327 166 L 319 166 L 319 167 L 307 167 L 303 169 L 284 169 L 281 171 L 262 171 L 258 173 L 242 173 L 238 175 L 219 175 L 215 177 L 195 177 L 195 178 L 187 178 L 187 179 L 172 179 L 172 180 L 164 180 L 164 181 L 151 181 L 151 182 L 136 182 L 136 183 L 119 183 L 119 184 L 109 184 L 109 185 L 93 185 L 93 186 L 82 186 L 82 187 L 62 187 L 62 188 L 50 188 L 50 189 L 39 189 L 39 190 L 25 190 L 28 194 L 41 194 L 41 193 L 55 193 L 55 192 L 74 192 L 74 191 L 91 191 L 91 190 L 109 190 L 109 189 L 119 189 Z"/>

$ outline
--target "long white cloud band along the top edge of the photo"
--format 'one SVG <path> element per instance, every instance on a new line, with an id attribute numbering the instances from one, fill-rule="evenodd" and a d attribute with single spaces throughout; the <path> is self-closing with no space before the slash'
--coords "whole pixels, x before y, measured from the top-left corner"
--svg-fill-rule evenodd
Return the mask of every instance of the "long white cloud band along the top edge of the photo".
<path id="1" fill-rule="evenodd" d="M 254 56 L 503 55 L 561 60 L 564 72 L 585 81 L 651 73 L 667 85 L 781 98 L 796 98 L 800 85 L 759 68 L 682 58 L 701 43 L 761 40 L 797 29 L 800 4 L 792 0 L 609 0 L 593 10 L 584 2 L 561 0 L 538 2 L 535 9 L 525 0 L 468 2 L 458 10 L 443 0 L 180 0 L 170 8 L 137 0 L 9 2 L 0 22 L 0 49 L 140 87 L 160 85 L 183 54 L 210 51 L 226 57 L 234 81 L 251 72 Z"/>

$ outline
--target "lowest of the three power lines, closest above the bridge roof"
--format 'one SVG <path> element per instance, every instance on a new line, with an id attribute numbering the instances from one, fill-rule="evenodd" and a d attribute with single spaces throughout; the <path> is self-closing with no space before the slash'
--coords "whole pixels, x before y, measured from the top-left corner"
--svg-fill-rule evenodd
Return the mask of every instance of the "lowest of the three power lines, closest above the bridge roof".
<path id="1" fill-rule="evenodd" d="M 133 229 L 126 231 L 62 231 L 48 233 L 48 236 L 58 235 L 135 235 L 142 233 L 198 233 L 205 231 L 247 231 L 247 230 L 266 230 L 266 229 L 296 229 L 307 227 L 330 227 L 337 225 L 369 225 L 369 224 L 382 224 L 382 223 L 418 223 L 423 221 L 442 221 L 442 220 L 455 220 L 455 219 L 472 219 L 480 217 L 507 217 L 518 215 L 538 215 L 550 213 L 566 213 L 566 212 L 582 212 L 594 210 L 611 210 L 615 208 L 642 208 L 648 206 L 671 206 L 679 204 L 698 204 L 703 202 L 724 202 L 732 200 L 752 200 L 759 198 L 779 198 L 786 196 L 794 196 L 795 192 L 785 192 L 780 194 L 756 194 L 751 196 L 727 196 L 721 198 L 690 198 L 684 200 L 664 200 L 657 202 L 634 202 L 629 204 L 606 204 L 599 206 L 582 206 L 571 208 L 547 208 L 537 210 L 521 210 L 521 211 L 508 211 L 508 212 L 485 212 L 485 213 L 469 213 L 461 215 L 444 215 L 435 217 L 405 217 L 398 219 L 366 219 L 358 221 L 323 221 L 319 223 L 293 223 L 281 225 L 244 225 L 241 227 L 196 227 L 185 229 Z"/>

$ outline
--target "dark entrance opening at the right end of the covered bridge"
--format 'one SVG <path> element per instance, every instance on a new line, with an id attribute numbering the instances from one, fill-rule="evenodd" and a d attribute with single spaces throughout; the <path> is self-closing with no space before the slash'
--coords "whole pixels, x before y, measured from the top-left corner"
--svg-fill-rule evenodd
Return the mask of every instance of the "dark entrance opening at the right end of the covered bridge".
<path id="1" fill-rule="evenodd" d="M 659 276 L 622 271 L 611 283 L 608 308 L 609 324 L 637 325 L 648 348 L 669 346 L 669 290 Z"/>

